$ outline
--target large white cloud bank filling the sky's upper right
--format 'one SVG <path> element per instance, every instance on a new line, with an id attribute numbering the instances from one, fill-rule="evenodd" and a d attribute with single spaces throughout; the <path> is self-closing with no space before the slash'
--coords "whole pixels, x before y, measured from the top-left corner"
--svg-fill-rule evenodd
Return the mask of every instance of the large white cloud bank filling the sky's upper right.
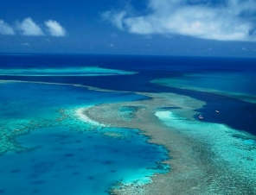
<path id="1" fill-rule="evenodd" d="M 147 15 L 106 11 L 103 18 L 138 35 L 187 35 L 217 41 L 256 41 L 255 0 L 148 0 Z"/>

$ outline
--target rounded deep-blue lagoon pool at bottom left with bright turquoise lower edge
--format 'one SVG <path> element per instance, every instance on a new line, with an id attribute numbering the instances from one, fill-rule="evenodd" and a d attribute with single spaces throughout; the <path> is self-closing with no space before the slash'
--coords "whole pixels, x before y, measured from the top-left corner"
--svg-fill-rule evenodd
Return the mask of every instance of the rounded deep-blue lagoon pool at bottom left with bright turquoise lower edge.
<path id="1" fill-rule="evenodd" d="M 17 138 L 27 152 L 0 157 L 0 192 L 106 194 L 116 182 L 144 184 L 151 174 L 167 171 L 157 167 L 164 149 L 145 141 L 129 129 L 82 134 L 63 127 L 36 129 Z"/>

